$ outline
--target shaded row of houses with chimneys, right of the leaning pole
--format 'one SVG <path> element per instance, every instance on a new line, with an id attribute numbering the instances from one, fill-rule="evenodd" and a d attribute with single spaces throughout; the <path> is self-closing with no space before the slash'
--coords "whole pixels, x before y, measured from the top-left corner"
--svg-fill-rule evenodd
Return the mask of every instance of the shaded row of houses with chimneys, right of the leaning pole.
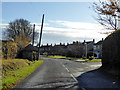
<path id="1" fill-rule="evenodd" d="M 41 54 L 47 55 L 62 55 L 70 57 L 89 57 L 94 56 L 96 58 L 102 57 L 102 42 L 103 39 L 95 43 L 95 40 L 78 42 L 74 41 L 72 44 L 60 43 L 58 45 L 42 45 L 40 48 Z"/>

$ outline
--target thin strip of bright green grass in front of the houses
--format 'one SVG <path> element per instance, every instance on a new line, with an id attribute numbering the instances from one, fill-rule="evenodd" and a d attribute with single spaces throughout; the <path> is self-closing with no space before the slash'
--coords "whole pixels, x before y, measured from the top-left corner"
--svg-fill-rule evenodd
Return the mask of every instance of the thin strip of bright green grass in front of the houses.
<path id="1" fill-rule="evenodd" d="M 57 58 L 57 59 L 69 59 L 69 60 L 85 60 L 86 62 L 101 62 L 101 59 L 83 59 L 83 58 L 75 58 L 75 57 L 66 57 L 66 56 L 44 56 L 48 58 Z"/>

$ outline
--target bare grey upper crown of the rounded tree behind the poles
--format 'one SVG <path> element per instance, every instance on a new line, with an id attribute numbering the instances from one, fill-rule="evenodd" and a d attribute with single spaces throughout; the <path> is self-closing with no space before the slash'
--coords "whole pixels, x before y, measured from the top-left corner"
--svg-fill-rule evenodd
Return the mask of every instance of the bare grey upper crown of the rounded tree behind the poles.
<path id="1" fill-rule="evenodd" d="M 32 36 L 32 26 L 29 21 L 24 19 L 16 19 L 9 23 L 7 28 L 9 39 L 15 40 L 16 36 L 25 35 L 27 37 Z"/>

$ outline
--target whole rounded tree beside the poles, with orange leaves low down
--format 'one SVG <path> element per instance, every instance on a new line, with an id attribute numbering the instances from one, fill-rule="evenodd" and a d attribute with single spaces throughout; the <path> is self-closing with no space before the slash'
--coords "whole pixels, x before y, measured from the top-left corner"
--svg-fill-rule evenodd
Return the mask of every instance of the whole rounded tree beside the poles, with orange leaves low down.
<path id="1" fill-rule="evenodd" d="M 38 33 L 34 33 L 37 37 Z M 17 43 L 19 49 L 24 48 L 33 39 L 33 28 L 29 21 L 25 19 L 16 19 L 9 23 L 7 27 L 8 40 Z"/>

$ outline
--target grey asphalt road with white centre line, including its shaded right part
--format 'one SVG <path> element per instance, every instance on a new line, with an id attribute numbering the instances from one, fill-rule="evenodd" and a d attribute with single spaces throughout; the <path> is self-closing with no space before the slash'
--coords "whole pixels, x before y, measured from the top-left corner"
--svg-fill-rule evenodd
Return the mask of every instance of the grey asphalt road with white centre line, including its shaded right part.
<path id="1" fill-rule="evenodd" d="M 100 62 L 78 62 L 64 59 L 44 58 L 44 63 L 31 75 L 19 82 L 21 88 L 120 88 L 116 78 L 95 70 Z M 92 71 L 91 71 L 92 70 Z"/>

